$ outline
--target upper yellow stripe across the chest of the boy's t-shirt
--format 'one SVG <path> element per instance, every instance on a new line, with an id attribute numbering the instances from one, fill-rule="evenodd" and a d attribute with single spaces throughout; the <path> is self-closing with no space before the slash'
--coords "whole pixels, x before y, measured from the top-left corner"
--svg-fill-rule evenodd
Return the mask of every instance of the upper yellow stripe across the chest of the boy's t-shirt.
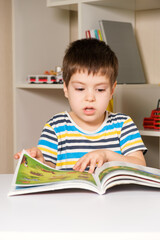
<path id="1" fill-rule="evenodd" d="M 65 138 L 65 137 L 85 137 L 87 139 L 99 139 L 99 138 L 102 138 L 102 137 L 105 137 L 105 136 L 111 136 L 111 135 L 115 135 L 115 134 L 120 134 L 120 131 L 113 131 L 113 132 L 108 132 L 108 133 L 102 133 L 102 134 L 99 134 L 98 136 L 87 136 L 87 135 L 82 135 L 80 133 L 64 133 L 64 134 L 61 134 L 58 136 L 58 139 L 60 138 Z"/>

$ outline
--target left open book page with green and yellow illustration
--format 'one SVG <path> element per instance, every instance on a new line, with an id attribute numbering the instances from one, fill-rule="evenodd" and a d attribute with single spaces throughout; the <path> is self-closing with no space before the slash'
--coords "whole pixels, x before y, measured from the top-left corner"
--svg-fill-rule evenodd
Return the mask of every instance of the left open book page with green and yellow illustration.
<path id="1" fill-rule="evenodd" d="M 19 160 L 12 185 L 29 187 L 71 181 L 87 182 L 97 186 L 94 177 L 88 172 L 55 170 L 24 152 Z"/>

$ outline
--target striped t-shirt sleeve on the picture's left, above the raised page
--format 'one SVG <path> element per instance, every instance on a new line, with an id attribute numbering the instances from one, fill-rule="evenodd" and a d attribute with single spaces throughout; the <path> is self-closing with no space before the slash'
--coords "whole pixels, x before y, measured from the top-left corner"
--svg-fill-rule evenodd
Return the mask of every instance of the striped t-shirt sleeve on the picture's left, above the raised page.
<path id="1" fill-rule="evenodd" d="M 46 123 L 38 142 L 38 148 L 42 151 L 46 161 L 56 164 L 58 140 L 53 127 Z"/>

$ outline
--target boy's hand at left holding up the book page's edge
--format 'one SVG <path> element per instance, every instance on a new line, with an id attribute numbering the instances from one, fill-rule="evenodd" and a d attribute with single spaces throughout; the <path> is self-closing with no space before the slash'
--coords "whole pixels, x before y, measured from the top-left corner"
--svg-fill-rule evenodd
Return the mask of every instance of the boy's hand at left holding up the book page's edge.
<path id="1" fill-rule="evenodd" d="M 33 157 L 33 158 L 36 158 L 37 160 L 39 160 L 40 162 L 44 163 L 45 160 L 44 160 L 44 157 L 43 157 L 43 154 L 41 152 L 41 150 L 37 147 L 33 147 L 33 148 L 29 148 L 29 149 L 26 149 L 26 152 L 28 152 L 28 154 Z M 21 155 L 22 151 L 16 153 L 14 155 L 14 158 L 15 159 L 19 159 L 20 158 L 20 155 Z"/>

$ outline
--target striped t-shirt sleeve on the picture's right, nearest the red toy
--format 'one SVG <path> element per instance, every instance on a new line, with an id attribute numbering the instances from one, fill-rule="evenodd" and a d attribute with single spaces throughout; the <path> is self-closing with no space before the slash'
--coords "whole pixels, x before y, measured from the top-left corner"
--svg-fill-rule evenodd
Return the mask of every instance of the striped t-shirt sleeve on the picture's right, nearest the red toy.
<path id="1" fill-rule="evenodd" d="M 130 117 L 127 117 L 121 128 L 120 147 L 123 155 L 139 150 L 142 150 L 143 153 L 147 151 L 141 135 Z"/>

